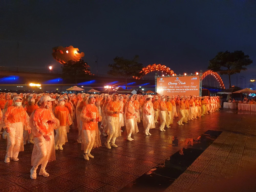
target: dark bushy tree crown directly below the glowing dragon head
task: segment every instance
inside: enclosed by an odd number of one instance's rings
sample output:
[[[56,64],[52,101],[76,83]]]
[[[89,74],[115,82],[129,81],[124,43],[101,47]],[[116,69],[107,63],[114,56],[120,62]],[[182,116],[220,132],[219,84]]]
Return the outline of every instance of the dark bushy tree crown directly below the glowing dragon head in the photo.
[[[77,84],[78,79],[86,79],[91,74],[89,67],[82,59],[79,61],[70,60],[61,67],[62,78]]]

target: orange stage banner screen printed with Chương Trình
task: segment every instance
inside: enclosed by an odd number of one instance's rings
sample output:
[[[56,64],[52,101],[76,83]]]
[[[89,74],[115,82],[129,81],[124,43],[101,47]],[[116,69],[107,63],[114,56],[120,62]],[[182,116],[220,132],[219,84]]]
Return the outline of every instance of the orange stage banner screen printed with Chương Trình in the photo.
[[[173,76],[156,79],[156,92],[160,95],[199,95],[200,76]]]

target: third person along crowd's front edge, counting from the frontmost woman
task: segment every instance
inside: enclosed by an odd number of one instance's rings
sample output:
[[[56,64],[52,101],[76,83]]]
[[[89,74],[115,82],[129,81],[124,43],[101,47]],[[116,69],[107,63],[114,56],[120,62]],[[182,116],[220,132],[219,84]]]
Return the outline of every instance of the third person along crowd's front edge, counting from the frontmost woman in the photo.
[[[121,136],[121,130],[120,130],[120,120],[119,120],[119,114],[121,112],[121,105],[118,101],[118,93],[114,93],[113,95],[113,101],[110,101],[105,109],[106,112],[106,121],[108,123],[108,138],[105,142],[105,146],[108,149],[111,149],[111,147],[118,147],[115,144],[116,137]],[[110,143],[111,142],[111,143]]]

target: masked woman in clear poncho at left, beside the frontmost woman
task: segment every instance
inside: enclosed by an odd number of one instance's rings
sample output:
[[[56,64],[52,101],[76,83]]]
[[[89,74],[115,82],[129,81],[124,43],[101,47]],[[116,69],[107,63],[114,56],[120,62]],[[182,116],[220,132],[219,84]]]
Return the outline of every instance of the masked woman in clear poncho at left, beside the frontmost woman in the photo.
[[[4,114],[4,127],[7,135],[7,148],[5,163],[10,162],[10,158],[18,161],[18,154],[24,151],[23,145],[23,129],[31,132],[29,127],[29,116],[21,105],[22,98],[16,95],[13,98],[12,106],[9,106]]]

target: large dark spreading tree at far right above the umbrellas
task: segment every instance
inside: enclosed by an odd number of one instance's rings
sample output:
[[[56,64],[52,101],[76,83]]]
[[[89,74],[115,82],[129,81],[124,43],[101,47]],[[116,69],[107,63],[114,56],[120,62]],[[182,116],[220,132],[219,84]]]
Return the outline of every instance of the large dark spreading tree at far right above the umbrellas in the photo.
[[[249,55],[244,55],[243,51],[218,52],[215,58],[209,61],[208,69],[219,72],[221,75],[227,74],[229,77],[229,87],[231,87],[230,76],[247,70],[245,66],[250,65],[252,60]]]

